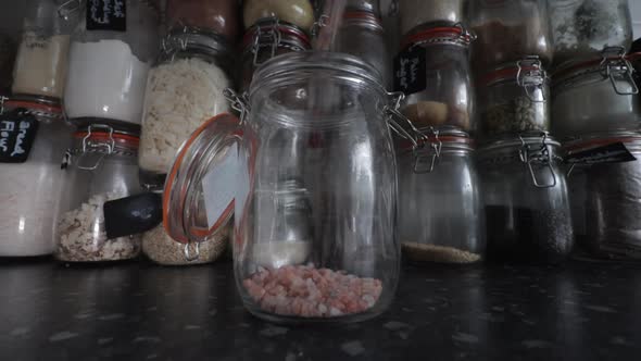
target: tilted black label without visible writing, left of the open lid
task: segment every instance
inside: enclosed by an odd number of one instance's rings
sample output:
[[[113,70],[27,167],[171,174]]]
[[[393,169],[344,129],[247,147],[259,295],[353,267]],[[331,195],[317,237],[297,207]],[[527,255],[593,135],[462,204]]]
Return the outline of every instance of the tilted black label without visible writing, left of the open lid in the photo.
[[[162,196],[142,194],[104,202],[104,231],[108,239],[150,231],[163,221]]]

